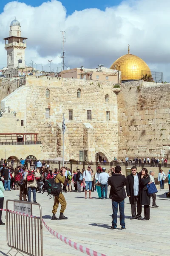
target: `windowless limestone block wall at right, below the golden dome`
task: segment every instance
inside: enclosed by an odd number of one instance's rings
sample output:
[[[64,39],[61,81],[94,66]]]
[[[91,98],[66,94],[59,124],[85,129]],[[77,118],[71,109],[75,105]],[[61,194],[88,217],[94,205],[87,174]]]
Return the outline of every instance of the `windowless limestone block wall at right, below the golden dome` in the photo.
[[[170,159],[170,84],[135,81],[118,95],[119,158]]]

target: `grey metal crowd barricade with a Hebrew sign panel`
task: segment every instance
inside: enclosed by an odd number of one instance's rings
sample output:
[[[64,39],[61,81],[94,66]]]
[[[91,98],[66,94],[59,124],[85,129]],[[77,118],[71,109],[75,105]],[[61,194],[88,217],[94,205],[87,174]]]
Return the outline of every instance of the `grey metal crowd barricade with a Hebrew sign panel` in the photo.
[[[14,211],[8,208],[9,202],[14,203]],[[34,206],[39,207],[40,217],[32,215]],[[43,256],[42,208],[40,204],[7,200],[6,225],[7,244],[11,247],[9,252],[16,249],[21,254],[23,252],[31,256]]]

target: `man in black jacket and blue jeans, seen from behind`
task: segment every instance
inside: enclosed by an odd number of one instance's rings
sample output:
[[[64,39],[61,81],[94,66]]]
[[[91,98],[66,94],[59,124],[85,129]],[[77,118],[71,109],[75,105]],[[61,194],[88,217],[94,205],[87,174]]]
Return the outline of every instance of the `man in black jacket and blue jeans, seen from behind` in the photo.
[[[121,167],[115,167],[115,173],[111,177],[108,178],[108,184],[111,186],[111,191],[109,198],[112,199],[112,227],[111,229],[116,229],[117,227],[117,211],[118,211],[118,204],[119,204],[119,212],[120,212],[120,224],[121,229],[125,229],[125,188],[126,185],[126,178],[125,175],[122,175]]]

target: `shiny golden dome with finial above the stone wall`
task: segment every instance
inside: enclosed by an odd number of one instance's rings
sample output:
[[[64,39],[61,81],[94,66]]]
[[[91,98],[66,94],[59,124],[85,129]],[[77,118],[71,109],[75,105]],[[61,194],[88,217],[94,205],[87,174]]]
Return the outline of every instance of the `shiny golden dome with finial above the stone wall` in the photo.
[[[121,71],[122,81],[139,80],[143,75],[151,75],[150,68],[138,56],[129,53],[118,58],[110,67]]]

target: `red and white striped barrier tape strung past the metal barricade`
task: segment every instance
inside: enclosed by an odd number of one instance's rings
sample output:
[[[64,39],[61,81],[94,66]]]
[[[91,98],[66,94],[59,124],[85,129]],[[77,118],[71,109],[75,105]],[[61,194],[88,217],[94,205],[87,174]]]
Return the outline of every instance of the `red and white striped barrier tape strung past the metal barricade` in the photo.
[[[0,211],[6,211],[6,209],[0,209]],[[8,212],[15,213],[17,215],[23,215],[23,216],[26,216],[26,217],[37,218],[36,216],[33,216],[33,215],[29,215],[29,214],[25,214],[25,213],[21,213],[21,212],[15,212],[15,211],[12,211],[12,210],[8,210]],[[77,244],[76,242],[71,241],[70,239],[66,238],[65,236],[60,235],[59,233],[57,233],[56,231],[54,231],[50,227],[48,227],[43,219],[42,219],[42,223],[44,224],[46,229],[53,236],[55,236],[57,239],[61,240],[65,244],[68,244],[69,246],[73,247],[74,249],[79,250],[80,252],[85,253],[85,254],[90,255],[90,256],[106,256],[105,254],[98,253],[94,250],[91,250],[87,247],[84,247],[80,244]]]

